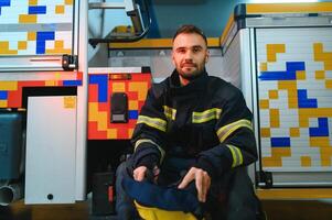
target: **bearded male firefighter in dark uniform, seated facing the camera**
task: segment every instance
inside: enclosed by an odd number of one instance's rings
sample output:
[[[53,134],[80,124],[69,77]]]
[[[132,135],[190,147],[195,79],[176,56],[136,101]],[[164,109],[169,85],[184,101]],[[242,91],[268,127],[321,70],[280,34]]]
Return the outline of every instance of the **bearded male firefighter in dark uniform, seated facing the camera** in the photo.
[[[117,172],[120,219],[136,219],[120,183],[128,170],[136,182],[148,178],[176,190],[193,186],[212,219],[256,219],[258,201],[245,170],[257,160],[251,113],[239,89],[208,76],[208,57],[207,40],[199,28],[183,25],[176,31],[175,69],[149,89],[132,135],[135,152],[127,169]]]

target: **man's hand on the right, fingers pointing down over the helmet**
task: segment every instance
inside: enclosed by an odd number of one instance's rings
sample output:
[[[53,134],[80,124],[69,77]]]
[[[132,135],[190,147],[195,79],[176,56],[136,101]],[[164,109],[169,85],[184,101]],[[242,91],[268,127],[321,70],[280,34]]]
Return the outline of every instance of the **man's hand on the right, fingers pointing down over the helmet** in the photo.
[[[192,167],[184,178],[182,179],[181,184],[178,186],[179,189],[185,188],[192,180],[195,179],[195,185],[197,189],[197,199],[201,202],[206,201],[206,195],[211,186],[211,177],[208,174],[196,167]]]

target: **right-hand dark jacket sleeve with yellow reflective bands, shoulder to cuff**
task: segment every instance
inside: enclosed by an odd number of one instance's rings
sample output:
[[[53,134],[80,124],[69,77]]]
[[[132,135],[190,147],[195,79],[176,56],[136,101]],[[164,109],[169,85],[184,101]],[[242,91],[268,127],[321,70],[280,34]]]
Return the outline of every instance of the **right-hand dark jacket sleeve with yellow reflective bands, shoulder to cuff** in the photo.
[[[215,125],[219,144],[200,153],[196,163],[196,167],[206,170],[212,178],[257,160],[251,112],[240,90],[228,92],[221,107],[222,112]]]

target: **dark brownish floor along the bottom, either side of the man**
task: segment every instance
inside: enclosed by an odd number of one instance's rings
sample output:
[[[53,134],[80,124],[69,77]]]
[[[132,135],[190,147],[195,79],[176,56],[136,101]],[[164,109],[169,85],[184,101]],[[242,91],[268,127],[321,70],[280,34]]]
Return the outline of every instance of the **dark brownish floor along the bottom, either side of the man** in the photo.
[[[268,220],[331,220],[332,204],[324,200],[263,200]],[[88,202],[75,205],[33,205],[17,201],[0,207],[0,220],[116,220],[92,217]]]

